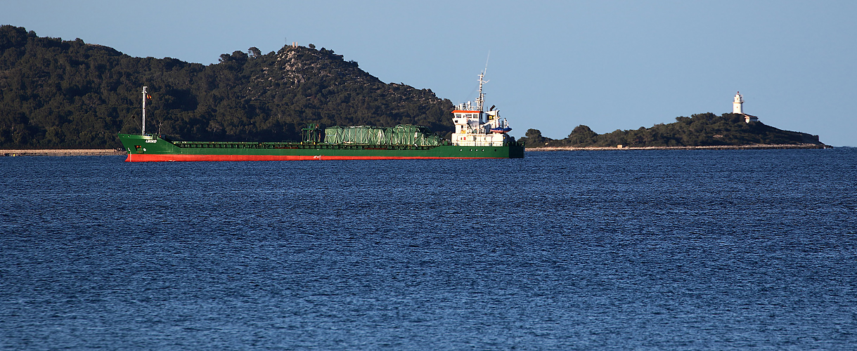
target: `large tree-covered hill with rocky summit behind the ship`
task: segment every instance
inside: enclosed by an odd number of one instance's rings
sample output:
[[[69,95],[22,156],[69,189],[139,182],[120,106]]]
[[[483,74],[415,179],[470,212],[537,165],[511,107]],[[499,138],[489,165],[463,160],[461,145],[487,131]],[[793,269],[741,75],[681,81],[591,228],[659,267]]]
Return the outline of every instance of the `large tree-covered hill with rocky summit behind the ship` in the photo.
[[[129,57],[81,39],[0,27],[0,148],[119,147],[117,133],[177,140],[300,140],[307,123],[417,124],[452,133],[452,102],[386,84],[314,45],[252,47],[202,65]]]

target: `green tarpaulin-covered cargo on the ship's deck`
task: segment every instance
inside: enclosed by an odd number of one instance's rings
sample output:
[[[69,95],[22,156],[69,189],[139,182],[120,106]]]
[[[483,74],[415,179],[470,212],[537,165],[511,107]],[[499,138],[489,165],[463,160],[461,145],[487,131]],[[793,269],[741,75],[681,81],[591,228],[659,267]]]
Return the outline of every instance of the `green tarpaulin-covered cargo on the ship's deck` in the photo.
[[[440,146],[440,137],[428,128],[411,124],[396,127],[329,127],[327,144]]]

